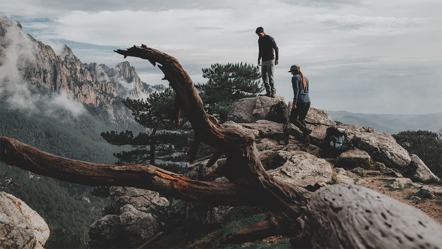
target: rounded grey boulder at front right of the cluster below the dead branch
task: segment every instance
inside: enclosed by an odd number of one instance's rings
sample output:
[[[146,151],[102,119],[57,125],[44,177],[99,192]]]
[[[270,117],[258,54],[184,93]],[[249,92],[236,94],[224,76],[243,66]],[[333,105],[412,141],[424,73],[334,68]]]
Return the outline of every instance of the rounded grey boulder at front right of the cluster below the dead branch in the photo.
[[[156,215],[138,211],[130,204],[121,207],[120,224],[133,248],[152,238],[160,230]]]

